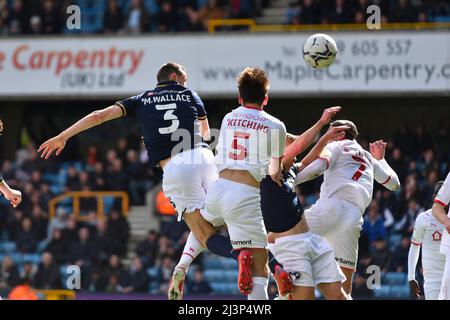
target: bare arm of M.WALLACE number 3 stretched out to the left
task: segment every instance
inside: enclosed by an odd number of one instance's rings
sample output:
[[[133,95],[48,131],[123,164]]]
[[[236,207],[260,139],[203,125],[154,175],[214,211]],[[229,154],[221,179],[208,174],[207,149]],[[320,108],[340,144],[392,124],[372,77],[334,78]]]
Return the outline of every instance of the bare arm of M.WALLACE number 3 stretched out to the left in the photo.
[[[102,110],[96,110],[61,132],[56,137],[45,141],[38,149],[42,152],[41,158],[48,159],[54,151],[57,156],[66,146],[67,140],[77,135],[78,133],[88,130],[92,127],[98,126],[104,122],[119,118],[123,116],[122,108],[118,105],[113,105]]]

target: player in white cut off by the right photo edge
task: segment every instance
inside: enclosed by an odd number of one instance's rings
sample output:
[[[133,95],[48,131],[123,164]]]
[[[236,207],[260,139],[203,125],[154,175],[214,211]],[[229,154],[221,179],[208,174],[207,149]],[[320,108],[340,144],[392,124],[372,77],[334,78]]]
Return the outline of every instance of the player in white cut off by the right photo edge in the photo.
[[[433,216],[444,225],[440,251],[445,256],[445,266],[439,300],[450,300],[450,217],[445,212],[445,208],[448,208],[449,203],[450,173],[445,178],[445,182],[434,199],[433,208],[431,209]]]

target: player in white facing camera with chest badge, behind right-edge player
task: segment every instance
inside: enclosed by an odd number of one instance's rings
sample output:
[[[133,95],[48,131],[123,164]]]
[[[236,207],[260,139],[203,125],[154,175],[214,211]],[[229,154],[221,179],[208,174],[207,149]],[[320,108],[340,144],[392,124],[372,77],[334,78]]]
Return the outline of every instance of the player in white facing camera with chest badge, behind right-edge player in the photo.
[[[433,198],[443,184],[444,181],[436,183]],[[420,297],[415,274],[421,246],[425,300],[437,300],[439,297],[445,266],[445,256],[439,252],[443,229],[444,226],[436,220],[431,209],[422,212],[416,218],[408,254],[408,282],[416,299]]]

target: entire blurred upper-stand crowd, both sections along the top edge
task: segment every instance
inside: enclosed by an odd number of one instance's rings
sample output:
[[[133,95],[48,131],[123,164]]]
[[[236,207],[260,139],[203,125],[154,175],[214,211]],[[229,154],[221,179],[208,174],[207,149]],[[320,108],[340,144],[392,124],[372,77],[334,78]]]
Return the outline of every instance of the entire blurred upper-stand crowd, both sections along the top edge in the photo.
[[[0,35],[67,32],[71,4],[88,17],[82,18],[84,33],[136,34],[206,31],[210,19],[262,16],[271,0],[0,0]],[[450,21],[445,0],[291,0],[285,22],[365,23],[372,4],[380,7],[382,23]]]

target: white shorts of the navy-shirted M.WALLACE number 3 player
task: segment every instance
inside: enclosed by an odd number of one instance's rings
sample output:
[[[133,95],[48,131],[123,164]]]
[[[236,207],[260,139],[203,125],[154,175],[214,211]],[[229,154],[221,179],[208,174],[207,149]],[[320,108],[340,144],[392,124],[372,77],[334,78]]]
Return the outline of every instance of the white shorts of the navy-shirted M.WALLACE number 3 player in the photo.
[[[214,154],[208,148],[184,151],[170,159],[162,188],[178,212],[178,221],[185,212],[204,208],[206,190],[217,178]]]

